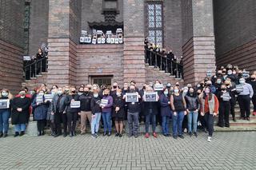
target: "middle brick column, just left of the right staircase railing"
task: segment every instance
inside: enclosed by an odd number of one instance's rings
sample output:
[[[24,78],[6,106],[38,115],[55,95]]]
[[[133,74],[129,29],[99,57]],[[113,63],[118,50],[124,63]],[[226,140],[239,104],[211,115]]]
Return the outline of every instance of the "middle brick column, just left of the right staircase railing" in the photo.
[[[138,86],[146,81],[144,62],[144,1],[123,1],[124,82],[134,80]]]

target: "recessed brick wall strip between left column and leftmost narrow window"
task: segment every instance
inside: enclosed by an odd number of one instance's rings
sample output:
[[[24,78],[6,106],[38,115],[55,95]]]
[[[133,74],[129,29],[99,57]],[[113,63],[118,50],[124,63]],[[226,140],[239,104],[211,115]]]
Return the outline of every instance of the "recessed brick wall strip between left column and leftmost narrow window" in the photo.
[[[38,47],[47,43],[49,0],[30,0],[30,56],[38,53]]]

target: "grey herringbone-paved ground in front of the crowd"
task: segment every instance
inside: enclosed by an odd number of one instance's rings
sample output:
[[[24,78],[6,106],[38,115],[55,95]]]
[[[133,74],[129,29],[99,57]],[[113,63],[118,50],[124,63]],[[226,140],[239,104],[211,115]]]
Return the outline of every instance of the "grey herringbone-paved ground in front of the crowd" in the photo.
[[[185,139],[90,135],[0,139],[0,169],[256,169],[256,132]]]

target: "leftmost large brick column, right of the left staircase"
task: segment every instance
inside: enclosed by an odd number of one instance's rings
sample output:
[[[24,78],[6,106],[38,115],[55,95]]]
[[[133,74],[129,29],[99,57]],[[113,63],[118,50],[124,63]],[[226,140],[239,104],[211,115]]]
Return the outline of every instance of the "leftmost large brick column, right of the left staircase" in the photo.
[[[48,85],[76,85],[80,23],[81,0],[49,1]]]

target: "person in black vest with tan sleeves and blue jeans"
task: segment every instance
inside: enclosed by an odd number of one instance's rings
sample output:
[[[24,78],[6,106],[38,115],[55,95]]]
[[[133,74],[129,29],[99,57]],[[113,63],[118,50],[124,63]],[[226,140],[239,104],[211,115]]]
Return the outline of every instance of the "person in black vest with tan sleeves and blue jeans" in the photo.
[[[178,86],[174,87],[174,94],[170,96],[170,106],[173,110],[173,136],[174,139],[184,138],[182,135],[182,122],[184,115],[186,115],[186,101]]]

